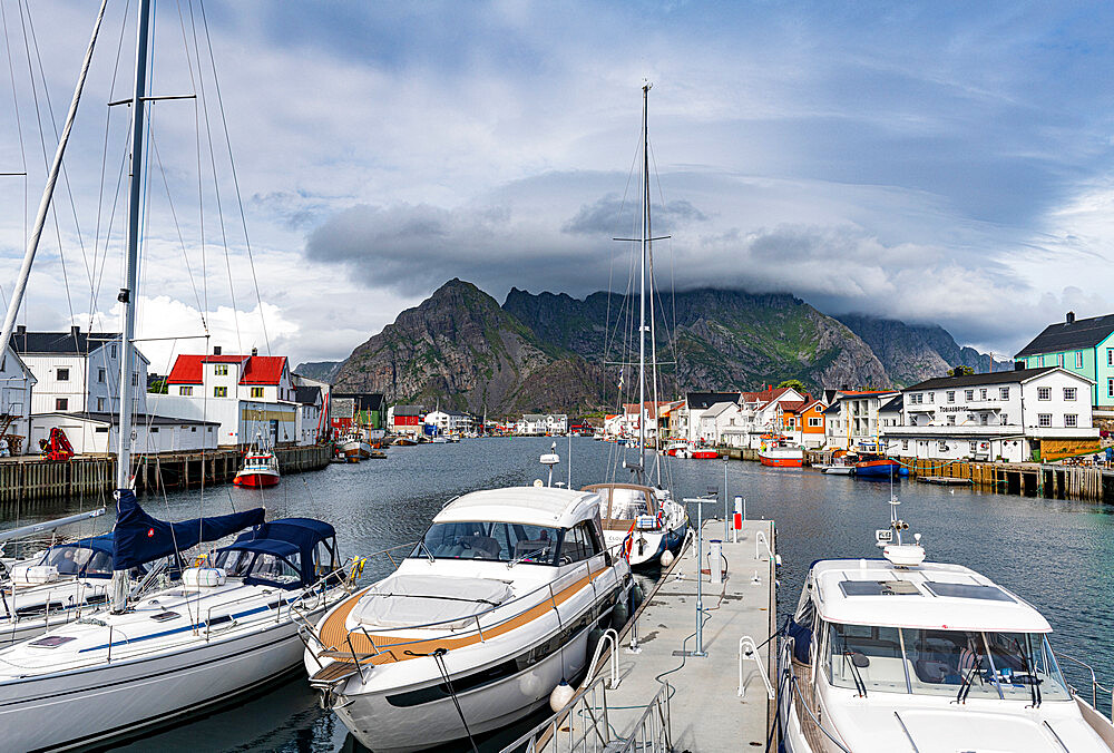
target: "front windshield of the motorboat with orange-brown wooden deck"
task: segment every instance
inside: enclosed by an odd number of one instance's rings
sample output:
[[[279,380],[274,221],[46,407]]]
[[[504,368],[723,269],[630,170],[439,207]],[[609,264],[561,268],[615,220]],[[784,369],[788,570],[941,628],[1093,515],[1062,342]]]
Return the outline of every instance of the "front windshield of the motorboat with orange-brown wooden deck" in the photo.
[[[519,522],[436,522],[410,556],[555,565],[559,534]]]

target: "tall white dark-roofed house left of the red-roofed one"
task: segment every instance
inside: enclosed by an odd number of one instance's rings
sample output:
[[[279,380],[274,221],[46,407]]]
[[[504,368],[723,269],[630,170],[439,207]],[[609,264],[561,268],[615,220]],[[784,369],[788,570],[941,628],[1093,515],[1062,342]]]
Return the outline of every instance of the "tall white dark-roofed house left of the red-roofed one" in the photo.
[[[18,326],[11,345],[35,374],[31,413],[117,413],[120,410],[118,332],[28,332]],[[135,351],[133,411],[147,412],[149,361]]]

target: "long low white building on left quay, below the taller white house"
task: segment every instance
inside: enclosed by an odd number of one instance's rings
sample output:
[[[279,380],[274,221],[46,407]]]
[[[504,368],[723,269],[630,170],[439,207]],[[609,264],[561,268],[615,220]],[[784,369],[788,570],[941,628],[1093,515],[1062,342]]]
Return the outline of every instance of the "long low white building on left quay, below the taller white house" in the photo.
[[[58,428],[77,454],[115,454],[119,448],[119,413],[37,413],[31,420],[31,447],[50,437]],[[221,424],[216,421],[175,419],[137,414],[133,451],[154,454],[194,450],[215,450]]]

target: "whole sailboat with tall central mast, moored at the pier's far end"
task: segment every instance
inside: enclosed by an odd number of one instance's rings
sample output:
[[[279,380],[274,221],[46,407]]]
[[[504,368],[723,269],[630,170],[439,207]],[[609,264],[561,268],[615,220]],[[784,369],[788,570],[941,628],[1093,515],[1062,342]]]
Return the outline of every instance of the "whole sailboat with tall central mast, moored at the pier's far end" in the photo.
[[[600,517],[604,539],[608,547],[622,545],[632,567],[668,565],[684,544],[688,531],[688,514],[683,505],[673,499],[662,485],[662,453],[654,452],[654,477],[646,469],[646,334],[649,333],[651,383],[654,398],[653,418],[658,421],[661,402],[657,400],[657,342],[654,329],[652,243],[655,239],[651,224],[649,202],[649,89],[648,81],[642,87],[642,236],[639,238],[617,238],[638,241],[639,289],[638,289],[638,436],[634,440],[638,449],[637,463],[624,462],[624,467],[635,476],[633,483],[594,483],[585,490],[600,496]],[[659,239],[659,238],[658,238]],[[649,267],[649,280],[647,280]],[[649,306],[647,322],[646,309]],[[655,430],[655,446],[661,441]]]

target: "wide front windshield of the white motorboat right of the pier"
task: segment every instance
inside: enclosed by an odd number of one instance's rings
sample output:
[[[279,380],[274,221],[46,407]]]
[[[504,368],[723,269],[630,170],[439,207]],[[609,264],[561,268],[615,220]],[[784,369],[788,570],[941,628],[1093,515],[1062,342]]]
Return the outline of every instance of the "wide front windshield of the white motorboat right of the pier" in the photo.
[[[1071,700],[1043,633],[928,630],[832,624],[824,671],[867,691],[1032,701]],[[1035,686],[1035,688],[1034,688]]]

